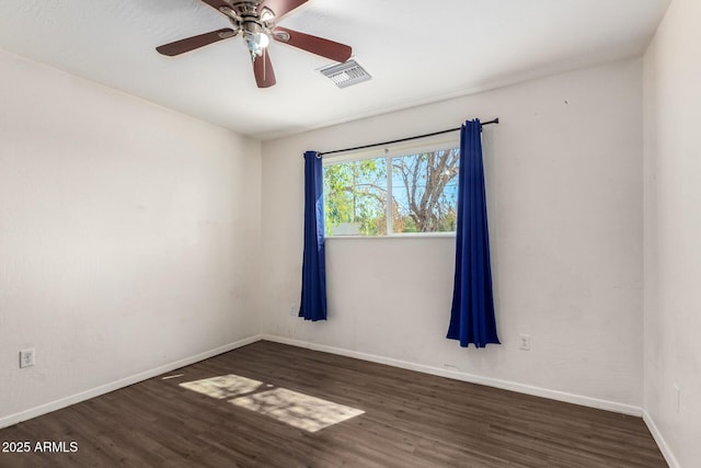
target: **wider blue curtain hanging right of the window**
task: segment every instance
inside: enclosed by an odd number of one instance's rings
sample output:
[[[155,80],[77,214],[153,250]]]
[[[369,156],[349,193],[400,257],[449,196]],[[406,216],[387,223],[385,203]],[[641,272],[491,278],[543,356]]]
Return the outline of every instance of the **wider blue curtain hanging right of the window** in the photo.
[[[460,129],[456,275],[448,339],[460,346],[499,343],[494,319],[490,235],[486,222],[482,126],[468,121]]]

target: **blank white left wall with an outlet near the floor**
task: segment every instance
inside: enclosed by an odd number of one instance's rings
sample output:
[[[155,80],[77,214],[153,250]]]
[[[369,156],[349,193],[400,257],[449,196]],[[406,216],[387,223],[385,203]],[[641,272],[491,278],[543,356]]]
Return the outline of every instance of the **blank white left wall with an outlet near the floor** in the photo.
[[[260,142],[2,52],[0,77],[0,422],[257,333]]]

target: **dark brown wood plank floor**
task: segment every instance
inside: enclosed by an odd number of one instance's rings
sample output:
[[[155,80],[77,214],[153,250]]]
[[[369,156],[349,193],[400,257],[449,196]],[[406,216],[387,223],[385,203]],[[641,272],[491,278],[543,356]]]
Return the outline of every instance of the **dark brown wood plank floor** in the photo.
[[[666,467],[640,418],[271,342],[0,431],[1,467]],[[365,414],[309,433],[179,384],[235,374]]]

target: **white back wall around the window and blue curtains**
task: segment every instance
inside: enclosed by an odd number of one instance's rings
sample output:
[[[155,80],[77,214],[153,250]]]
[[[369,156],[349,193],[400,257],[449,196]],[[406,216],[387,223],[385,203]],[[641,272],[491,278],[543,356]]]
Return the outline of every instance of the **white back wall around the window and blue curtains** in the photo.
[[[330,239],[329,321],[289,313],[299,305],[304,150],[494,116],[502,124],[483,137],[503,345],[464,350],[444,338],[453,239]],[[642,152],[640,60],[265,142],[263,330],[555,398],[640,407]],[[518,350],[519,333],[531,335],[531,351]]]

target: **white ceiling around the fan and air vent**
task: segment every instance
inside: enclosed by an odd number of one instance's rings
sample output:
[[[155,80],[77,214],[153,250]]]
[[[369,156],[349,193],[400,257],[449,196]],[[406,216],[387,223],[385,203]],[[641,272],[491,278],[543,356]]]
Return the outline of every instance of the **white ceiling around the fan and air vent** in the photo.
[[[199,0],[2,0],[0,48],[267,139],[640,56],[669,0],[310,0],[280,25],[353,46],[372,80],[337,89],[331,62],[273,44],[257,89],[240,37],[164,57],[227,27]]]

